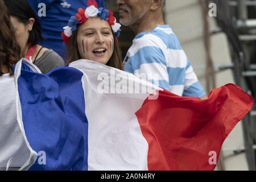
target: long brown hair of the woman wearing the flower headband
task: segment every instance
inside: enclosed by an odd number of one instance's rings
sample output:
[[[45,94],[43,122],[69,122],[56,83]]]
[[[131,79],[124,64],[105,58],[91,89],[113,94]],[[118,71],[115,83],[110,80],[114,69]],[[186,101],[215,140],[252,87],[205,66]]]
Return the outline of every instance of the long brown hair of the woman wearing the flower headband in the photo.
[[[72,32],[72,35],[68,41],[68,63],[72,63],[73,61],[76,61],[82,58],[79,54],[79,49],[77,47],[77,33],[78,33],[79,26],[80,24],[77,25],[77,30]],[[112,30],[112,34],[114,36],[114,51],[108,63],[106,63],[106,65],[108,65],[109,67],[123,70],[121,49],[119,48],[117,40],[115,39],[115,34],[113,30]]]

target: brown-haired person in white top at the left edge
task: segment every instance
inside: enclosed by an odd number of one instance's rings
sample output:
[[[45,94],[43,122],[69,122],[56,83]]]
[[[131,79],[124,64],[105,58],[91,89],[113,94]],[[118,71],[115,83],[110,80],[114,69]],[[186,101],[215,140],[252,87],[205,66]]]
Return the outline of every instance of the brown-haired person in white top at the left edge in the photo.
[[[0,170],[19,169],[29,151],[16,118],[13,65],[20,59],[9,11],[0,0]]]

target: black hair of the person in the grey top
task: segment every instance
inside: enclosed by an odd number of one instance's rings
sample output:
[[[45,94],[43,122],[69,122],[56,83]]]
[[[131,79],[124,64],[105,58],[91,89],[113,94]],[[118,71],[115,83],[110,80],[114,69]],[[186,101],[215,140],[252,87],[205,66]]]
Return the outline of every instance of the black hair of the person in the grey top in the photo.
[[[26,0],[3,0],[5,1],[6,7],[9,9],[10,15],[15,16],[19,22],[28,24],[30,18],[34,18],[35,22],[30,31],[28,37],[28,44],[30,46],[35,46],[39,42],[43,42],[44,38],[42,36],[41,23],[36,16],[34,10]]]

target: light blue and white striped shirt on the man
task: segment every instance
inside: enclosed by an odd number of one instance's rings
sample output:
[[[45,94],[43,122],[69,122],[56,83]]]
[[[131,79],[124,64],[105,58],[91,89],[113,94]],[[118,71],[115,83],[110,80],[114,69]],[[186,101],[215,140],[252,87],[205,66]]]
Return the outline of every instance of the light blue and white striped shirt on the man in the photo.
[[[189,97],[205,96],[190,61],[169,25],[158,25],[150,32],[138,34],[127,52],[126,60],[126,72],[158,75],[148,80],[172,93]]]

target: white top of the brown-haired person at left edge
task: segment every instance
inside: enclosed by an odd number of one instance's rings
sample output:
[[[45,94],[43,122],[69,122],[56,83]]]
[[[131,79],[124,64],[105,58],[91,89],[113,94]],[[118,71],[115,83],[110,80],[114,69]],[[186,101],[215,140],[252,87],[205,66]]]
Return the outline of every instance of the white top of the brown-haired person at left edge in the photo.
[[[16,119],[14,77],[9,73],[0,76],[0,170],[19,169],[29,158],[28,150]]]

